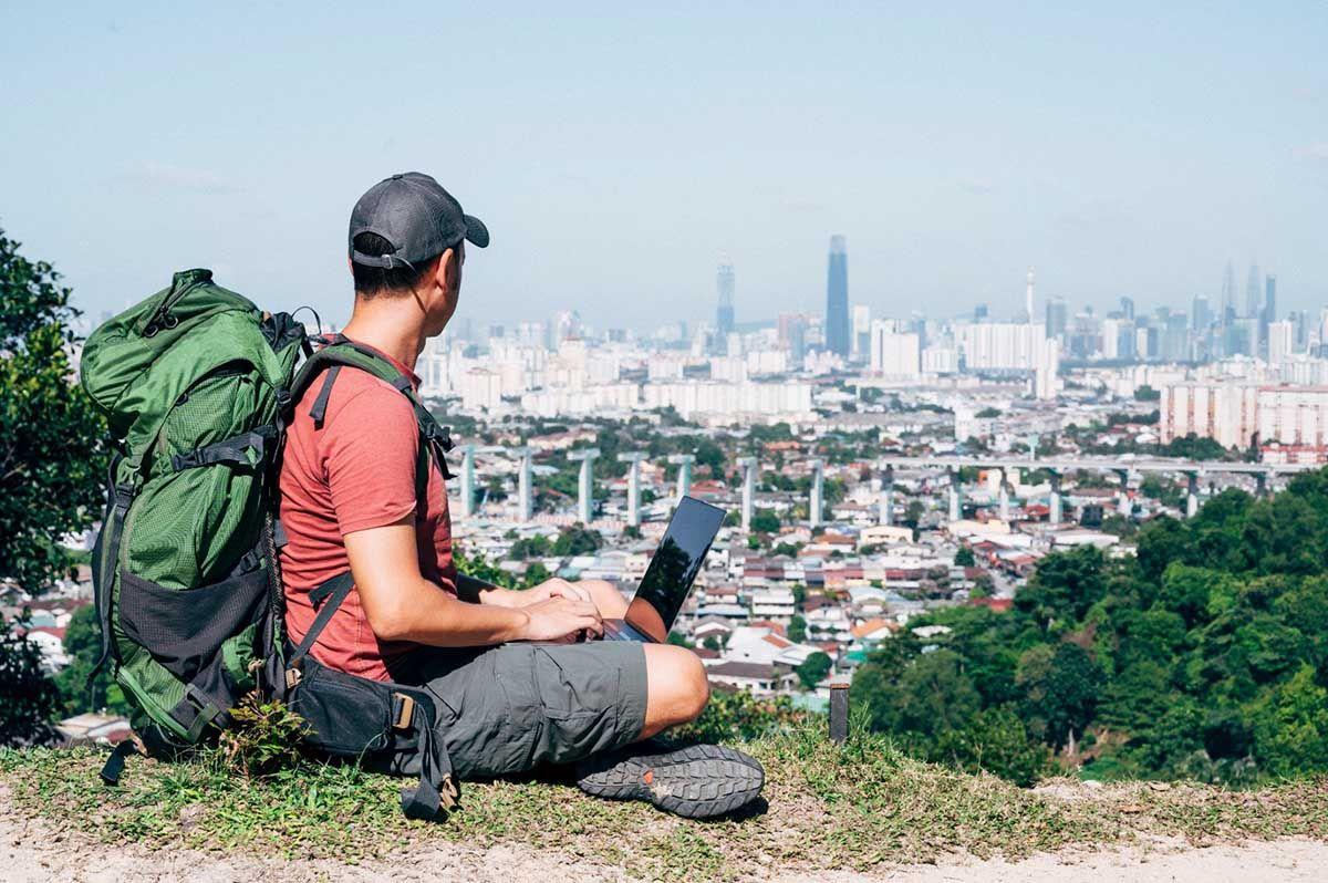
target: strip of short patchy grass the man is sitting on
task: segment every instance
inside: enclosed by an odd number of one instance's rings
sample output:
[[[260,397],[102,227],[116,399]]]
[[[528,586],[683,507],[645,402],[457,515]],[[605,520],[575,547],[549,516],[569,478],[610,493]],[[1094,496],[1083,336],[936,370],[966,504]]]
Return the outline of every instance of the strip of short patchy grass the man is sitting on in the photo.
[[[766,769],[769,806],[744,818],[689,822],[639,803],[610,803],[548,781],[467,783],[462,810],[405,819],[398,779],[303,762],[262,782],[215,756],[134,758],[104,789],[90,750],[0,752],[0,787],[21,813],[106,843],[361,862],[412,844],[521,843],[623,866],[647,879],[725,880],[786,871],[870,870],[956,851],[1020,858],[1153,835],[1194,843],[1328,837],[1328,781],[1256,791],[1070,781],[1023,790],[908,758],[857,734],[843,746],[799,730],[742,744]]]

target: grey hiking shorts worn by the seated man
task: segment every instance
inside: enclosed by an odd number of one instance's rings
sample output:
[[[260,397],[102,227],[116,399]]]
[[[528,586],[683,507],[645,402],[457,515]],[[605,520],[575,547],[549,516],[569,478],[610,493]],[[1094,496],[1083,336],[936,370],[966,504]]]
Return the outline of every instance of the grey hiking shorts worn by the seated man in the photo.
[[[641,644],[425,648],[393,680],[437,697],[438,734],[459,779],[579,761],[635,741],[645,725]]]

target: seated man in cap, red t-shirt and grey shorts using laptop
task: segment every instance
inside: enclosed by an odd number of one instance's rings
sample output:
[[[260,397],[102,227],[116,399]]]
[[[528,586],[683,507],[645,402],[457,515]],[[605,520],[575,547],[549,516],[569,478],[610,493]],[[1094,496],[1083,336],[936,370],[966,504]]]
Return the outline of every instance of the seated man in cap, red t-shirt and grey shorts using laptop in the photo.
[[[343,333],[413,378],[425,340],[457,309],[466,243],[489,231],[433,178],[392,175],[351,214],[355,309]],[[315,381],[311,396],[323,384]],[[347,570],[355,591],[319,636],[324,665],[422,685],[437,698],[438,734],[462,779],[580,762],[591,794],[647,799],[706,817],[760,794],[752,758],[714,746],[631,748],[695,720],[709,697],[691,651],[588,640],[625,611],[603,582],[547,580],[529,591],[485,587],[458,596],[442,474],[417,487],[420,432],[390,384],[341,370],[323,420],[295,408],[280,475],[287,627],[309,629],[309,591]],[[465,582],[465,580],[463,580]]]

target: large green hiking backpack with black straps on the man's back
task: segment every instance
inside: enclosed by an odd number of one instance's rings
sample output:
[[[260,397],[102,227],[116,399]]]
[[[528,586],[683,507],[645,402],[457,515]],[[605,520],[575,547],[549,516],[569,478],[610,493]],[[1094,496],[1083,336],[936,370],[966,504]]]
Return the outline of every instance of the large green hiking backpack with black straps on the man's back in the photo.
[[[327,600],[299,648],[283,627],[276,481],[284,428],[319,376],[315,409],[325,406],[343,366],[386,380],[414,405],[421,491],[430,462],[446,475],[446,432],[390,361],[340,336],[315,352],[288,313],[260,311],[207,270],[175,274],[170,288],[88,339],[82,386],[118,442],[93,552],[98,668],[112,664],[149,753],[215,737],[240,698],[259,690],[305,717],[315,750],[410,771],[404,760],[414,760],[421,782],[402,793],[402,807],[432,817],[440,787],[449,801],[456,789],[433,737],[429,696],[327,669],[303,677],[316,667],[307,655],[317,632],[351,591],[349,574],[315,591]],[[108,761],[109,785],[133,746]]]

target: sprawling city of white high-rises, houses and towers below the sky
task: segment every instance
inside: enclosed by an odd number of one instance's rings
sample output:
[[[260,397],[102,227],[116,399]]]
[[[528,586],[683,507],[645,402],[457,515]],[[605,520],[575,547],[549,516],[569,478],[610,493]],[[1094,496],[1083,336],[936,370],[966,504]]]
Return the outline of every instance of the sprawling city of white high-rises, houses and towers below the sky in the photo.
[[[834,236],[823,312],[740,323],[736,287],[721,263],[713,323],[649,335],[458,317],[417,368],[457,542],[518,582],[631,592],[679,497],[730,513],[673,636],[721,689],[823,705],[924,611],[1008,608],[1054,550],[1129,555],[1149,518],[1328,462],[1328,311],[1279,316],[1256,268],[1189,312],[1070,313],[1029,271],[1004,307],[876,317]],[[32,604],[52,668],[81,576]]]

